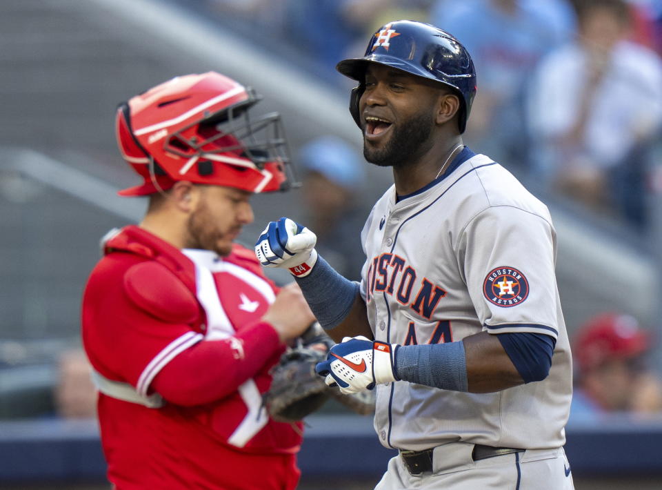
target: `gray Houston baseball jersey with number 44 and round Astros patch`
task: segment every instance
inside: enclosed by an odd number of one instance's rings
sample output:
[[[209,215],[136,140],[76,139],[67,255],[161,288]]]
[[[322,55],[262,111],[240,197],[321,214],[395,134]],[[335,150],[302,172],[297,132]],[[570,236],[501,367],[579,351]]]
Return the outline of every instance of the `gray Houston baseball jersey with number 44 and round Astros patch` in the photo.
[[[385,447],[415,451],[458,440],[561,447],[572,366],[549,211],[485,155],[466,148],[458,161],[441,182],[399,202],[392,186],[365,223],[361,295],[375,340],[411,345],[483,330],[544,333],[556,339],[552,367],[541,382],[496,393],[378,385],[375,430]]]

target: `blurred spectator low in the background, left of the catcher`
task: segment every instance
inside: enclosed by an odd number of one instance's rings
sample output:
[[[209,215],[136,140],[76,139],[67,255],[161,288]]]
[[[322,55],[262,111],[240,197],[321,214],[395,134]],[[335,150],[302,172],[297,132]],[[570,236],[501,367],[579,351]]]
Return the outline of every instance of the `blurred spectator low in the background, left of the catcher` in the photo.
[[[97,416],[97,389],[92,382],[92,367],[82,349],[64,351],[59,356],[54,403],[61,418]]]

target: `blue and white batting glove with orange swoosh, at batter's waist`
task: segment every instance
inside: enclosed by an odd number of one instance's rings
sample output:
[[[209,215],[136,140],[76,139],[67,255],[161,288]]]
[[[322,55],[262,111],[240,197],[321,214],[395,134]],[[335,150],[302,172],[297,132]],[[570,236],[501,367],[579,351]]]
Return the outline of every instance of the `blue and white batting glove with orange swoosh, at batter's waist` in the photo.
[[[330,349],[327,360],[317,363],[315,371],[329,386],[337,384],[342,393],[372,390],[376,384],[399,380],[394,368],[397,347],[363,335],[345,337]]]

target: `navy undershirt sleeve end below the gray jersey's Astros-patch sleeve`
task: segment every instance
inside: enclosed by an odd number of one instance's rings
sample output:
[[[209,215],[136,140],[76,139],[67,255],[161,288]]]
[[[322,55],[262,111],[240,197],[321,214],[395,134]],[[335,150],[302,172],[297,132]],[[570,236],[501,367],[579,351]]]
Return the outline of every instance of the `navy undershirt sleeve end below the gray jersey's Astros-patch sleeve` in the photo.
[[[547,378],[556,339],[544,333],[499,333],[496,335],[525,383]]]

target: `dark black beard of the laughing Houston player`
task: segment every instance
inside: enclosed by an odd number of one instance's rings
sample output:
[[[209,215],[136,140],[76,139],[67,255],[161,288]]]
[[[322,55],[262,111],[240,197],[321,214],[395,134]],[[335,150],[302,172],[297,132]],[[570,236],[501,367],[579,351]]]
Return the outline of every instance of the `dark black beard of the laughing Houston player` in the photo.
[[[383,148],[370,148],[363,142],[363,157],[381,167],[404,167],[421,153],[432,133],[432,112],[421,112],[411,119],[393,125],[393,133]]]

